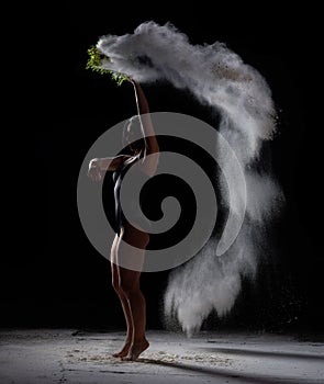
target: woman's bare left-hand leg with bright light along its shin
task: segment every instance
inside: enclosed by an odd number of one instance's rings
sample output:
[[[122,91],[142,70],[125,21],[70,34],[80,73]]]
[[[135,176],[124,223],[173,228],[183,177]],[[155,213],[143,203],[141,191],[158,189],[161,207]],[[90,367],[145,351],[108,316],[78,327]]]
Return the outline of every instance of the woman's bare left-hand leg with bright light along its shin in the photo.
[[[120,352],[113,353],[112,355],[114,358],[124,358],[129,354],[132,340],[133,340],[133,319],[131,315],[131,308],[130,308],[130,303],[127,301],[127,297],[125,296],[124,292],[121,289],[120,284],[120,274],[119,274],[119,266],[116,264],[116,249],[118,249],[118,244],[121,240],[121,238],[116,235],[112,247],[111,247],[111,272],[112,272],[112,286],[114,287],[116,294],[119,295],[119,298],[122,304],[122,308],[124,312],[124,317],[126,321],[126,327],[127,327],[127,334],[126,334],[126,339],[123,348],[121,349]]]

